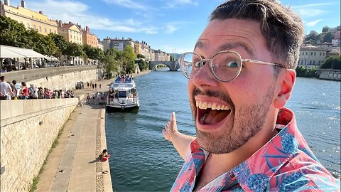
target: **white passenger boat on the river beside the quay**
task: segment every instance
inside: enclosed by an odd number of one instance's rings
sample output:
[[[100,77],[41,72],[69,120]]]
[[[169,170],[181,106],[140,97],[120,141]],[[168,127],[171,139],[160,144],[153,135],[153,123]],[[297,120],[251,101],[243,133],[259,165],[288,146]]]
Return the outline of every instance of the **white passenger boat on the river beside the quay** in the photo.
[[[139,109],[139,95],[133,78],[119,78],[109,86],[107,97],[108,112],[130,111]]]

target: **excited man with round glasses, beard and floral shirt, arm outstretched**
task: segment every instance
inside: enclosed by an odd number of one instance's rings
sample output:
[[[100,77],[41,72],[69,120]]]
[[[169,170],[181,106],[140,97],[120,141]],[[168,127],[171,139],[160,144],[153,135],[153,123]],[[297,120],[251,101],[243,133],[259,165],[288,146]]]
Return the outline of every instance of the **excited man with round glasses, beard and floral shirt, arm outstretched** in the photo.
[[[232,0],[180,58],[197,137],[163,129],[185,159],[172,191],[340,191],[284,107],[303,23],[277,1]],[[190,58],[190,60],[187,60]]]

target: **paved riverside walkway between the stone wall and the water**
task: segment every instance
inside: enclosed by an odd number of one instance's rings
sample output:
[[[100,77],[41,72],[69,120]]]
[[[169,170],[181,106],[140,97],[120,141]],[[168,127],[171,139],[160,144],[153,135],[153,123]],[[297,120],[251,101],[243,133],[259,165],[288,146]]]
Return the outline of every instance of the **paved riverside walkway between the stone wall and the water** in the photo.
[[[97,81],[97,89],[85,85],[85,89],[75,90],[75,97],[84,101],[88,93],[107,92],[112,81]],[[110,160],[102,162],[98,157],[103,149],[107,149],[104,105],[76,107],[43,166],[36,191],[113,191]]]

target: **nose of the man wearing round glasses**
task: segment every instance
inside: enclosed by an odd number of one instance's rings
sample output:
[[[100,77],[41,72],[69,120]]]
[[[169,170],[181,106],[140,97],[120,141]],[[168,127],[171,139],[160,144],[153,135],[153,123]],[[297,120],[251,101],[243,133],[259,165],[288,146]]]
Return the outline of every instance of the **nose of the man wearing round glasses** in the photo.
[[[212,89],[213,87],[218,86],[218,80],[215,78],[215,75],[213,75],[210,69],[210,62],[210,60],[205,60],[204,65],[202,65],[200,70],[197,71],[192,79],[195,86],[199,87],[200,89],[205,89],[208,87]]]

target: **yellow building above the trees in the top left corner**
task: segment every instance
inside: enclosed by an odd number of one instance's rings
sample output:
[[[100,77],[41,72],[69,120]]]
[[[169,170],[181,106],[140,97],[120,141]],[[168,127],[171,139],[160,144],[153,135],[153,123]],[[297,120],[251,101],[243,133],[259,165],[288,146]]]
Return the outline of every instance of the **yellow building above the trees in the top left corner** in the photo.
[[[10,0],[0,2],[0,15],[7,16],[22,23],[27,29],[33,28],[38,33],[48,35],[48,33],[58,33],[57,22],[43,14],[43,11],[32,11],[26,9],[26,2],[21,0],[21,6],[11,6]]]

